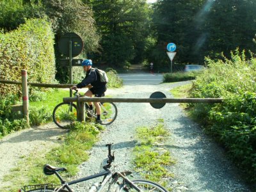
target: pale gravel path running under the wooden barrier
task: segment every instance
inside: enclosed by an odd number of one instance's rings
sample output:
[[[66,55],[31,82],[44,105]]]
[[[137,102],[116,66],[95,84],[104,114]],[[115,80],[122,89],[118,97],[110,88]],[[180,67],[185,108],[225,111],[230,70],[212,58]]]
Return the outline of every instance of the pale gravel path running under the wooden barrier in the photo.
[[[168,98],[171,88],[183,83],[124,86],[118,90],[108,90],[111,97],[148,98],[151,93],[163,92]],[[131,170],[131,151],[136,145],[134,130],[136,127],[156,124],[163,118],[164,125],[171,136],[164,147],[168,148],[175,166],[170,168],[175,177],[170,180],[173,191],[252,191],[239,172],[229,163],[221,147],[204,135],[197,124],[184,115],[179,104],[166,104],[154,109],[147,103],[117,103],[118,116],[115,122],[106,126],[100,140],[90,151],[90,159],[79,166],[78,177],[99,171],[102,159],[107,156],[106,143],[114,143],[115,164],[117,170]],[[49,124],[16,132],[0,141],[0,187],[3,175],[13,168],[20,156],[26,156],[37,150],[47,150],[58,144],[58,136],[64,131]],[[93,182],[93,181],[92,181]],[[82,182],[72,186],[76,191],[87,191],[92,182]],[[6,183],[5,183],[6,184]]]

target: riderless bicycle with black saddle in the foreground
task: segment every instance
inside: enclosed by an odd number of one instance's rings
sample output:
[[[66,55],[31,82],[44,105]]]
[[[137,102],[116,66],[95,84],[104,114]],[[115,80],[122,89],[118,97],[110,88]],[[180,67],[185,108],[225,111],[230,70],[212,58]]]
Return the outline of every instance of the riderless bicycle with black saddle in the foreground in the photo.
[[[76,184],[79,182],[83,182],[86,180],[94,179],[97,177],[103,177],[102,181],[95,183],[89,189],[89,192],[93,191],[161,191],[168,192],[163,186],[156,184],[155,182],[149,180],[130,180],[127,176],[131,175],[132,172],[124,171],[124,172],[115,172],[115,166],[111,168],[111,164],[115,160],[114,153],[111,154],[111,144],[107,144],[108,147],[108,157],[104,159],[100,166],[100,172],[94,175],[90,175],[88,177],[83,177],[81,179],[72,180],[70,182],[66,182],[63,180],[59,172],[66,171],[66,168],[56,168],[49,164],[44,165],[44,173],[45,175],[53,175],[55,174],[61,182],[61,185],[54,186],[52,184],[40,184],[33,186],[24,186],[20,191],[22,192],[71,192],[72,189],[70,185]],[[111,168],[111,169],[110,169]],[[106,187],[108,186],[108,188]]]

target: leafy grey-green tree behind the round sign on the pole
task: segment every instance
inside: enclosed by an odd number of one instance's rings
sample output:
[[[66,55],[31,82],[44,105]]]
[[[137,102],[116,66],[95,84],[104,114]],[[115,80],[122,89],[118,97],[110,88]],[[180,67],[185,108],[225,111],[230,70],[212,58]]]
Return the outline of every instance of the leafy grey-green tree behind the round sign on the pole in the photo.
[[[60,36],[74,32],[81,36],[84,42],[83,56],[95,51],[99,46],[100,36],[95,27],[93,13],[89,6],[81,0],[49,0],[44,1],[45,13],[52,22],[52,28],[56,33],[56,79],[61,82],[68,81],[68,68],[60,65],[61,56],[58,51]]]

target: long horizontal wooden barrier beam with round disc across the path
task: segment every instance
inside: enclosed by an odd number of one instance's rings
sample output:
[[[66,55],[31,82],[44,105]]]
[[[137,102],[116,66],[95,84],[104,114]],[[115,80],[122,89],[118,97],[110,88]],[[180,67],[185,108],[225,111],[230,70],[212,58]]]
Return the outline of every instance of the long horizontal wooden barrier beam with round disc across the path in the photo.
[[[150,102],[150,103],[220,103],[221,98],[102,98],[64,97],[63,102]]]

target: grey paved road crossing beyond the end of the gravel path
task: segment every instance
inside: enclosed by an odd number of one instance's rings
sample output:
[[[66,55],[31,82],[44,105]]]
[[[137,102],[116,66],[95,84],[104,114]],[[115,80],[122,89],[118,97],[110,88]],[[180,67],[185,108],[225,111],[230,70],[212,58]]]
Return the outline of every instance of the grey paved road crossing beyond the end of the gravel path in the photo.
[[[134,73],[134,74],[118,74],[123,79],[124,85],[129,84],[159,84],[163,82],[162,74],[150,73]]]

